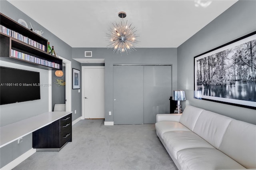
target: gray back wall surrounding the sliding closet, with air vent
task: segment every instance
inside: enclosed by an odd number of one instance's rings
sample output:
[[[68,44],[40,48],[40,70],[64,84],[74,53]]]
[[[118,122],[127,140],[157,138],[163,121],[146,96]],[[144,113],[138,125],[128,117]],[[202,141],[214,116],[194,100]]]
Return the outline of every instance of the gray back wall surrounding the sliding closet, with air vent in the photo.
[[[107,48],[73,48],[73,58],[84,58],[84,51],[92,51],[92,58],[105,59],[105,121],[113,121],[113,65],[114,64],[172,64],[172,88],[177,89],[177,49],[137,48],[129,55],[114,54]],[[170,75],[171,76],[171,75]]]

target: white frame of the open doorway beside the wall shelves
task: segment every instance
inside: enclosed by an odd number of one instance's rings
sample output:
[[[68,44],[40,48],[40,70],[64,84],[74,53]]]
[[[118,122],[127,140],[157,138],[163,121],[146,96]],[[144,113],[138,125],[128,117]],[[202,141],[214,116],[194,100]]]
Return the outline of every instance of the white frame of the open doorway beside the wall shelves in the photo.
[[[61,56],[58,55],[60,59],[62,59],[62,63],[65,63],[65,74],[66,74],[66,87],[65,87],[65,92],[66,92],[66,112],[71,112],[71,82],[72,82],[72,72],[71,72],[71,61],[68,59],[65,59]],[[49,70],[49,82],[52,83],[52,70]],[[52,87],[49,87],[49,111],[52,111]]]

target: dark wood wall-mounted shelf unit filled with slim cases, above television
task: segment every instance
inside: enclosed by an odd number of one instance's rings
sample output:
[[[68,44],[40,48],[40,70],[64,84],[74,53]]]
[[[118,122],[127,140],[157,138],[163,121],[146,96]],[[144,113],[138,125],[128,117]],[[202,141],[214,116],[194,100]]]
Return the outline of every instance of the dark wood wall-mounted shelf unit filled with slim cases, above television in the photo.
[[[0,13],[0,59],[40,69],[62,70],[62,59],[47,53],[48,40]],[[18,51],[24,57],[13,54]],[[26,55],[26,57],[25,57]]]

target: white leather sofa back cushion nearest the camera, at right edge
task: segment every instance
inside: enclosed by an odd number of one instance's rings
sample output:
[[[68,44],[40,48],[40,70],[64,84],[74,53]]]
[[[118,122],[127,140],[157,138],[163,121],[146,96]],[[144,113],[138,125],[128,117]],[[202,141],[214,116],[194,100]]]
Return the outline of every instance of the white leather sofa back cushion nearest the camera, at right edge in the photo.
[[[245,168],[256,168],[256,125],[231,121],[219,150]]]

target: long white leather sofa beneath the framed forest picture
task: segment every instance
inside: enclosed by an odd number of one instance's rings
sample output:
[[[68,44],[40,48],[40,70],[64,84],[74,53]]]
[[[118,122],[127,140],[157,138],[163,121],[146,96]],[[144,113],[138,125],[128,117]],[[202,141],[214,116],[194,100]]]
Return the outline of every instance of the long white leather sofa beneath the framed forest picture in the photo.
[[[179,170],[256,168],[256,125],[186,106],[156,115],[155,126]]]

